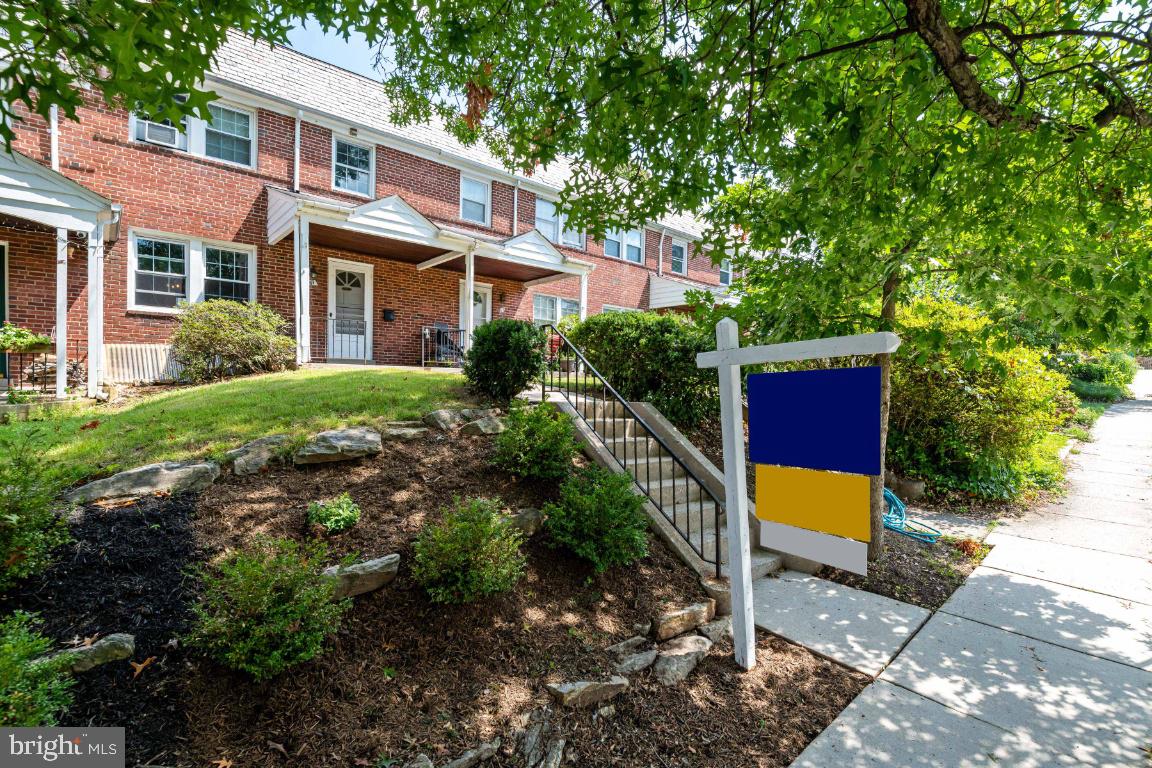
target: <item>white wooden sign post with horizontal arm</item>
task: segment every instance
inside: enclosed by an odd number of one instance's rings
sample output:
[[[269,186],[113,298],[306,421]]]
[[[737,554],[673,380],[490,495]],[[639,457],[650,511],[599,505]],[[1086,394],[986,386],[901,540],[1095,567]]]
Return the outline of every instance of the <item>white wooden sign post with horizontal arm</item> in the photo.
[[[720,373],[720,420],[723,431],[725,511],[728,524],[728,575],[732,587],[732,631],[736,663],[756,666],[756,624],[752,610],[751,539],[748,525],[748,471],[744,461],[744,410],[740,370],[744,365],[791,363],[854,355],[886,355],[900,347],[892,333],[835,336],[812,341],[740,345],[732,318],[717,324],[717,349],[700,352],[696,365]]]

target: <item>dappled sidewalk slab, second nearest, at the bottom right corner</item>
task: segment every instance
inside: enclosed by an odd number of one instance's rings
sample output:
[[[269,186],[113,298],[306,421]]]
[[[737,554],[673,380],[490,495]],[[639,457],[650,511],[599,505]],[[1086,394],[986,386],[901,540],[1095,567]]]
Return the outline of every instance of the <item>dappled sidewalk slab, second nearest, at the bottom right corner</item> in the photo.
[[[1146,760],[1152,672],[938,613],[882,679],[1079,765]]]

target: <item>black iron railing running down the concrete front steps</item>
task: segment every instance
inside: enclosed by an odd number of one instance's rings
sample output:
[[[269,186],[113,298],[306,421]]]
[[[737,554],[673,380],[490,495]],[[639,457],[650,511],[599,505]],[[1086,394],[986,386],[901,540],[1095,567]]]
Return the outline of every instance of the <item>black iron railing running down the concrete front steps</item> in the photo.
[[[721,576],[723,504],[567,336],[555,326],[546,329],[544,400],[550,391],[567,400],[692,552]],[[706,522],[712,523],[711,541]]]

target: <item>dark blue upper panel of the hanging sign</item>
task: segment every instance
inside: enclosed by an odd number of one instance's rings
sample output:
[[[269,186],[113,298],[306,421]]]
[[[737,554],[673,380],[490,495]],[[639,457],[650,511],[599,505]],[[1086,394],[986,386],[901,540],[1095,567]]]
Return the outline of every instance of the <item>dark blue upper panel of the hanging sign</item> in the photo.
[[[880,368],[748,377],[753,464],[880,473]]]

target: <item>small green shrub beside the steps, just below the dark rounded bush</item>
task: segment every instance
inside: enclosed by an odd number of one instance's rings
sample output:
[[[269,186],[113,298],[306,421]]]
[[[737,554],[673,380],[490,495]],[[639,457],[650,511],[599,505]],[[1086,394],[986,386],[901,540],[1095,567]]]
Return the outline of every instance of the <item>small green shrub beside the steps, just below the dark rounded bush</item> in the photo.
[[[551,405],[516,408],[497,436],[493,463],[530,480],[561,480],[579,450],[571,420]]]

